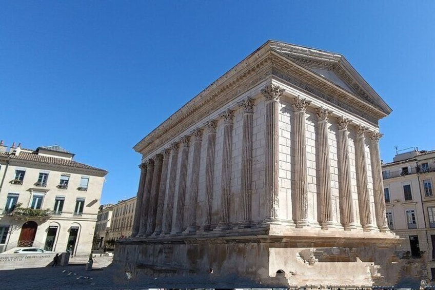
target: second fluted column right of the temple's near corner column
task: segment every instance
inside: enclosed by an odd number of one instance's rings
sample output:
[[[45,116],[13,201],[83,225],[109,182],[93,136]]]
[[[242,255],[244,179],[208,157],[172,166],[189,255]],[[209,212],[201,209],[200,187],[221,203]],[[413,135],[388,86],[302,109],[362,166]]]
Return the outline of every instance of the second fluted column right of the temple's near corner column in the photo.
[[[316,113],[318,119],[319,222],[323,229],[327,229],[333,225],[328,142],[328,117],[331,111],[320,107]]]

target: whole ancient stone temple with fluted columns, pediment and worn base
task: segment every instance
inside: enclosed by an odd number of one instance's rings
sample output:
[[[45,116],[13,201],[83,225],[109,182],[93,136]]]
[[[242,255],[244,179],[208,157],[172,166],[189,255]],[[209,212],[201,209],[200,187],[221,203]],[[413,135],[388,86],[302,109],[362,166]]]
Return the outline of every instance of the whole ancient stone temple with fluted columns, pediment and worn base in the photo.
[[[342,55],[266,42],[134,146],[133,233],[115,261],[137,277],[394,284],[390,112]]]

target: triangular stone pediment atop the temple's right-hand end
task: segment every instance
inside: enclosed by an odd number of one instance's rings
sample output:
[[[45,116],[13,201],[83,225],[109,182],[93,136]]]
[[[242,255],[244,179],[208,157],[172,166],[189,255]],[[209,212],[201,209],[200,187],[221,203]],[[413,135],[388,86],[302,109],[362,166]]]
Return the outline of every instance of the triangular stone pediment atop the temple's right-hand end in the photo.
[[[357,96],[386,114],[391,112],[391,108],[343,55],[282,42],[269,41],[268,44],[272,51],[280,53],[334,86]]]

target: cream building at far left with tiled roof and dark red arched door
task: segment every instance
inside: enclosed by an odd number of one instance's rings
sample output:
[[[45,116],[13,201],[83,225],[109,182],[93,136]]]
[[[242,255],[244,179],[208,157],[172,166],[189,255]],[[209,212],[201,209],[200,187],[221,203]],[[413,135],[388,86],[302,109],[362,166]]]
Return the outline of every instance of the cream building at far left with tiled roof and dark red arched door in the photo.
[[[0,143],[0,251],[33,246],[89,255],[106,170],[60,146]]]

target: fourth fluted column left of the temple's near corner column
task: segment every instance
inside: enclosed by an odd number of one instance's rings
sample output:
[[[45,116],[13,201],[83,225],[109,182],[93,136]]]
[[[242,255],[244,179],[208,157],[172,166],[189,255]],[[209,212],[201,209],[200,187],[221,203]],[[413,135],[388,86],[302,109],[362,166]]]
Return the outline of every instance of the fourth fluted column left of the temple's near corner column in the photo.
[[[190,179],[190,203],[192,206],[192,211],[190,212],[189,225],[186,229],[186,231],[190,233],[194,233],[196,231],[196,203],[198,202],[198,183],[200,179],[201,144],[203,140],[203,129],[194,129],[192,132],[192,136],[194,138],[192,175]]]

